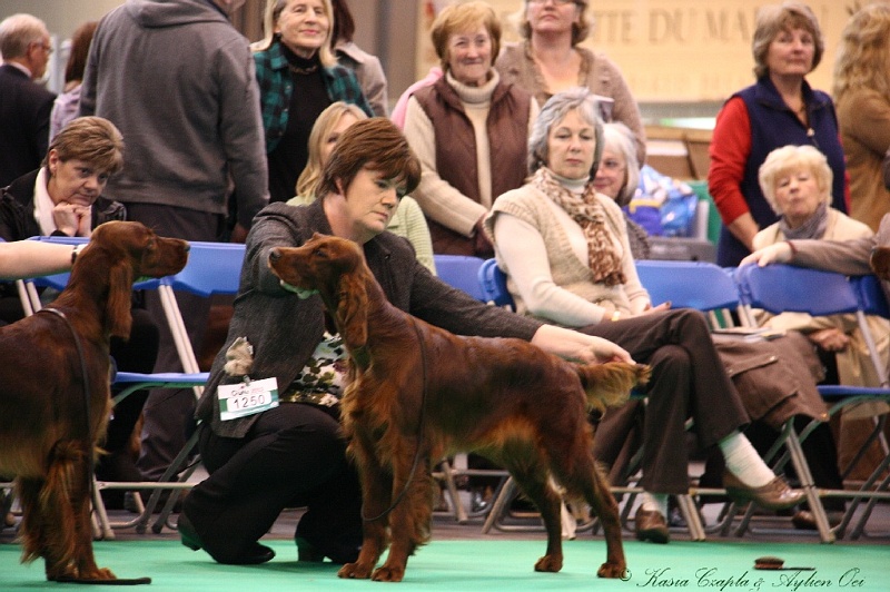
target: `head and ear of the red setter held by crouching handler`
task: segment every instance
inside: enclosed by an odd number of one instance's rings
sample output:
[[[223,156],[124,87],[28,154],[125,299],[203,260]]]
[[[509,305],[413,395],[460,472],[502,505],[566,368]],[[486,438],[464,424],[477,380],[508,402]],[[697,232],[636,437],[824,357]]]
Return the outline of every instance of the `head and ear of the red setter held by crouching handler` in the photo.
[[[365,256],[353,240],[316,233],[300,247],[276,247],[269,267],[289,288],[318,293],[350,348],[367,342]],[[368,272],[369,273],[369,272]]]

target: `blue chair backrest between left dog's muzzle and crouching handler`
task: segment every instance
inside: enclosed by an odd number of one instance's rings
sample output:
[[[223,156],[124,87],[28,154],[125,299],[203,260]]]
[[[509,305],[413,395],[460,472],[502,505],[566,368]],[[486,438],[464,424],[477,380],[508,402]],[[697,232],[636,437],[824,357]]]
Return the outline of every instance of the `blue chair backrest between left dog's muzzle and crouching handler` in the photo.
[[[162,283],[199,296],[237,294],[245,246],[237,243],[189,241],[188,264]]]

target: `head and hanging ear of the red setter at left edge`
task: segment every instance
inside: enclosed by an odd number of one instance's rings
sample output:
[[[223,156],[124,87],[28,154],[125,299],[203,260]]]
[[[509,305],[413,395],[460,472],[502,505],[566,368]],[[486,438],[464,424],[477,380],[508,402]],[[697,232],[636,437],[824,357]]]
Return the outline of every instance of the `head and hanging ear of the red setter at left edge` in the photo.
[[[76,277],[108,273],[106,303],[109,333],[130,335],[132,284],[140,277],[164,277],[180,272],[188,262],[188,243],[157,236],[137,221],[108,221],[96,227],[71,270]]]

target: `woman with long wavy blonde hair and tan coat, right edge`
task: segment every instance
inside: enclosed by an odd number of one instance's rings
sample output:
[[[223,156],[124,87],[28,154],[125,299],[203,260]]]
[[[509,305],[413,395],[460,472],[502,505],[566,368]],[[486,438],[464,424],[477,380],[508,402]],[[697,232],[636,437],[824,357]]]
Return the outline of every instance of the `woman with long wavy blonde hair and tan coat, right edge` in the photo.
[[[868,4],[843,28],[833,87],[850,174],[850,216],[877,231],[890,211],[881,170],[890,146],[890,4]]]

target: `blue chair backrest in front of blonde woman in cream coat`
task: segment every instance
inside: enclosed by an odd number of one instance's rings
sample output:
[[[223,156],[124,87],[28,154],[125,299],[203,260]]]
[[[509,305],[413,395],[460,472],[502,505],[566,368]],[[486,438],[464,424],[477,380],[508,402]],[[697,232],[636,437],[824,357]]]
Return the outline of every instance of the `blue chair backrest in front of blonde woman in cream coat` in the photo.
[[[859,309],[856,293],[841,274],[783,264],[745,265],[736,269],[735,279],[745,304],[772,314],[827,316]]]

